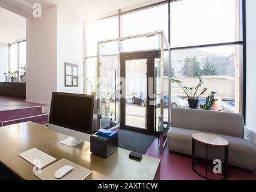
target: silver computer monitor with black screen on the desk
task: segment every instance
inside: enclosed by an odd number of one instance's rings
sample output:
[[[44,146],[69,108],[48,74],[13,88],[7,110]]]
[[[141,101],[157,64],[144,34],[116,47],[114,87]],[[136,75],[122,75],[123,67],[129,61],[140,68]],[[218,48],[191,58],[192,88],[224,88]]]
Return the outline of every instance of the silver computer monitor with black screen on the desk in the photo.
[[[93,95],[53,92],[49,130],[70,136],[60,142],[67,146],[89,142],[93,134],[93,110]]]

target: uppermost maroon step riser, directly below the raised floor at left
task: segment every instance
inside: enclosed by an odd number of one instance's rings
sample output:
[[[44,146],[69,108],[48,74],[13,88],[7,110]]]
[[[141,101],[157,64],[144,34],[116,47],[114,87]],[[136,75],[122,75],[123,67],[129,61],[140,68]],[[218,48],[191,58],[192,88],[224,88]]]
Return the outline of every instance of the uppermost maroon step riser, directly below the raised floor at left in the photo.
[[[0,111],[0,119],[5,117],[17,117],[25,114],[40,115],[42,113],[42,106],[25,107],[22,109],[4,110]],[[0,120],[1,121],[1,120]]]

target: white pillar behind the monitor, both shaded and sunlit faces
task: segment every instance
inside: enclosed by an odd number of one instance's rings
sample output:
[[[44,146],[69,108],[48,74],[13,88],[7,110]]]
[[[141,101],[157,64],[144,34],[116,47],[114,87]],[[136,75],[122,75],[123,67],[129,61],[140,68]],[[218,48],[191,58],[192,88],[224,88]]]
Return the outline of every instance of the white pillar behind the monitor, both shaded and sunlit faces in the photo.
[[[83,93],[84,20],[61,6],[28,18],[26,100],[50,104],[53,91]],[[79,87],[65,87],[64,63],[79,65]]]

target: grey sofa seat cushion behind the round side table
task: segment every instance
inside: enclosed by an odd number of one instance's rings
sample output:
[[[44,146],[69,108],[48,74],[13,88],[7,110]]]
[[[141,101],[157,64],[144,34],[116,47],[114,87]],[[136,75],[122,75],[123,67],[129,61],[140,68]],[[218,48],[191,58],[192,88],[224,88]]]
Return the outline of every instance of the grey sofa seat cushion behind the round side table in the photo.
[[[182,154],[192,154],[192,134],[206,133],[204,131],[189,130],[171,127],[168,131],[168,149]],[[215,133],[212,133],[215,134]],[[256,148],[248,140],[216,134],[229,142],[229,164],[254,170],[256,167]],[[209,146],[208,157],[210,160],[220,159],[224,162],[224,147]],[[197,157],[206,158],[206,145],[196,142],[195,154]]]

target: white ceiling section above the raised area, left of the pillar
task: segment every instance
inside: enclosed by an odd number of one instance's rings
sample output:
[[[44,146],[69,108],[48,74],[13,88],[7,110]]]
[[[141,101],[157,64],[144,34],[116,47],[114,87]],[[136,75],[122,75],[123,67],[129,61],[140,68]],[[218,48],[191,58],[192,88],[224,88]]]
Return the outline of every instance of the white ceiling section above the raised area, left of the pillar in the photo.
[[[0,7],[0,43],[26,38],[26,19]]]

